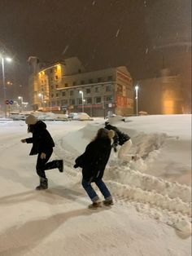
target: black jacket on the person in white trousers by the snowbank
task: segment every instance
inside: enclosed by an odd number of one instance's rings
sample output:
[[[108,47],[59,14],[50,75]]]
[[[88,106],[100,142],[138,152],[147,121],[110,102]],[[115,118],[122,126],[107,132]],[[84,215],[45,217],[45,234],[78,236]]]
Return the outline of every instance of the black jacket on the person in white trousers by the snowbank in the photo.
[[[107,125],[105,126],[105,129],[115,131],[115,136],[113,137],[112,143],[113,148],[116,148],[118,145],[122,146],[126,141],[131,139],[129,135],[124,134],[124,132],[117,129],[116,126]]]

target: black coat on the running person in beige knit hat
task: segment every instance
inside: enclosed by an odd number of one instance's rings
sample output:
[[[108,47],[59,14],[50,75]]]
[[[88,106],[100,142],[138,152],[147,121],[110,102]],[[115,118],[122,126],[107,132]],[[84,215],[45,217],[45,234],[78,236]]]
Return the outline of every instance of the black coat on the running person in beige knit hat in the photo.
[[[46,124],[43,121],[37,121],[33,125],[33,137],[26,139],[27,143],[33,143],[33,147],[29,155],[37,155],[41,152],[50,152],[55,147],[54,140],[46,130]]]

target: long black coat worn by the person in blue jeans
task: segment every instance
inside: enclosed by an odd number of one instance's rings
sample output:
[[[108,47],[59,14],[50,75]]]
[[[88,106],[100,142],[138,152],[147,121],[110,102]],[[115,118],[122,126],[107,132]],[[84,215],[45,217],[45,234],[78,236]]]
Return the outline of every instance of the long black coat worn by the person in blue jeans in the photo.
[[[103,173],[111,153],[111,139],[94,139],[85,152],[76,158],[76,167],[82,168],[83,178],[95,182],[103,178]]]

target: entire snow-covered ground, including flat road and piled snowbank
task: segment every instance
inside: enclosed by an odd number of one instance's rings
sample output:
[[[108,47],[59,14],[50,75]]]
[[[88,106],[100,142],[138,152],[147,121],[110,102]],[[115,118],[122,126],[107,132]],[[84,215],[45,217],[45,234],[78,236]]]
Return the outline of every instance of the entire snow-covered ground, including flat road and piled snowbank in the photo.
[[[0,119],[0,255],[191,254],[191,116],[128,117],[117,126],[140,158],[123,162],[111,152],[104,180],[115,205],[88,210],[81,169],[84,152],[104,120],[46,121],[55,139],[52,159],[64,173],[46,171],[49,189],[37,192],[37,156],[29,157],[24,121]],[[102,198],[102,196],[101,196]]]

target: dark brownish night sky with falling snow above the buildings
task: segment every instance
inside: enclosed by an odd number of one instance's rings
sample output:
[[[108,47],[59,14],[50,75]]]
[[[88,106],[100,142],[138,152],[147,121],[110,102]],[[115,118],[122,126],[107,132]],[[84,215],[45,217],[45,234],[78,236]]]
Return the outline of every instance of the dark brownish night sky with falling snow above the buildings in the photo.
[[[190,0],[0,0],[0,51],[14,57],[7,90],[26,90],[30,55],[77,56],[88,71],[125,65],[135,80],[150,76],[160,68],[156,46],[190,41],[190,19]]]

